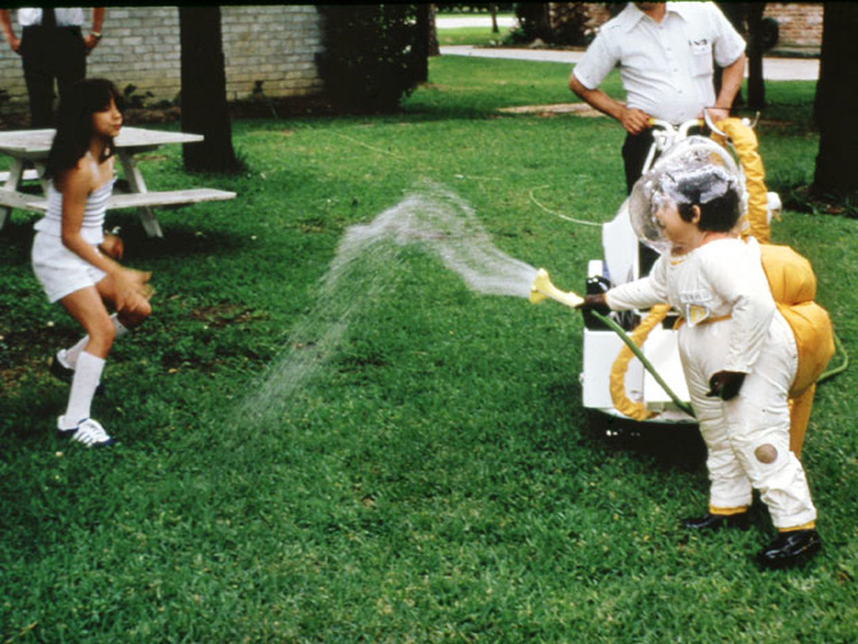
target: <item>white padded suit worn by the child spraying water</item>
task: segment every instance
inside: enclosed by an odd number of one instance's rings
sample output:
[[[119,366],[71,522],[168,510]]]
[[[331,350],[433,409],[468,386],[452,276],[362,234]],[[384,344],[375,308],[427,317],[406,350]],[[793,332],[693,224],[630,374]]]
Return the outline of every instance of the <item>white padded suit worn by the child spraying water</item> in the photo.
[[[714,240],[678,257],[662,255],[650,276],[607,292],[613,309],[659,302],[685,320],[680,357],[709,452],[710,512],[749,507],[756,488],[777,528],[813,521],[804,470],[789,451],[795,338],[771,297],[757,241]],[[747,374],[730,400],[706,395],[719,371]]]

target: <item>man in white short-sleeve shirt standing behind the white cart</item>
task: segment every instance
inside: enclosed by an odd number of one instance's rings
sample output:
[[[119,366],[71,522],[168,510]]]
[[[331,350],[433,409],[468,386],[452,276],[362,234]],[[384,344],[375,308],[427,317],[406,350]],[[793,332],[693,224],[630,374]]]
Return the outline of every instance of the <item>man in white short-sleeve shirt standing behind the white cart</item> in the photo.
[[[723,69],[715,94],[714,64]],[[625,105],[599,85],[619,67]],[[628,3],[602,25],[569,87],[597,110],[616,118],[628,135],[623,145],[628,192],[640,177],[652,143],[650,117],[674,125],[728,116],[745,73],[745,41],[714,3]]]

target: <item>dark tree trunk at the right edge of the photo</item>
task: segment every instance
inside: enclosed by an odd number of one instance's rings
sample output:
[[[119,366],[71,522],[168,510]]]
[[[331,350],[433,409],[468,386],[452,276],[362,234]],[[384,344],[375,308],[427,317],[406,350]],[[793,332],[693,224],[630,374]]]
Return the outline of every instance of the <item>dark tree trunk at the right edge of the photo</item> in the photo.
[[[814,116],[819,124],[819,155],[813,177],[817,196],[858,191],[858,3],[825,3],[822,52]]]

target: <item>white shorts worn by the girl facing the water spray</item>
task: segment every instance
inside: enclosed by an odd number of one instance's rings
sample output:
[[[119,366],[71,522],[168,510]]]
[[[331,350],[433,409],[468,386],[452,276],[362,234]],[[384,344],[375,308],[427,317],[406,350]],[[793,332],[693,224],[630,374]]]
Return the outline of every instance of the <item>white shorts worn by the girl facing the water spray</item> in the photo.
[[[96,252],[98,246],[93,245]],[[55,302],[76,290],[95,286],[107,273],[69,251],[55,234],[36,233],[33,239],[33,272],[45,289],[48,300]]]

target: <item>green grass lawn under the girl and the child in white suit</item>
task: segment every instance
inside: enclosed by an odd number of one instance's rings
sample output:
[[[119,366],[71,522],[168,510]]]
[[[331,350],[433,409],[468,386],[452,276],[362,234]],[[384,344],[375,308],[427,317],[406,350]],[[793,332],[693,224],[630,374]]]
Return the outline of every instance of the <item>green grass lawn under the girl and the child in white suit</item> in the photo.
[[[94,403],[120,441],[106,451],[53,434],[68,388],[46,361],[79,330],[45,301],[15,211],[0,641],[856,641],[854,368],[819,387],[803,456],[825,550],[762,574],[764,508],[748,532],[678,526],[705,509],[695,430],[608,439],[584,414],[579,315],[474,293],[420,246],[371,246],[331,280],[349,227],[431,181],[499,251],[581,289],[600,229],[563,217],[613,216],[622,131],[497,112],[571,100],[568,73],[433,59],[400,114],[234,122],[242,176],[189,178],[178,148],[142,159],[151,189],[239,197],[160,212],[163,240],[110,216],[157,293]],[[788,191],[813,177],[813,83],[767,90],[761,153]],[[855,226],[787,211],[773,229],[813,261],[852,355]]]

